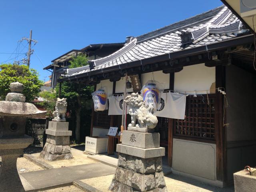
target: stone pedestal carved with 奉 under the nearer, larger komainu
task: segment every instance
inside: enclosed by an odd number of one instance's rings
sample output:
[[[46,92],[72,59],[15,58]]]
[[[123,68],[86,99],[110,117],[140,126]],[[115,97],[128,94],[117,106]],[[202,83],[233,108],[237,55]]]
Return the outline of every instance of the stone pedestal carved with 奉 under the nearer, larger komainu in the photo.
[[[118,167],[110,184],[113,192],[167,192],[162,172],[159,133],[124,131],[117,144]]]

